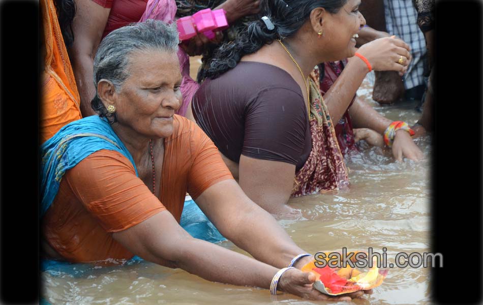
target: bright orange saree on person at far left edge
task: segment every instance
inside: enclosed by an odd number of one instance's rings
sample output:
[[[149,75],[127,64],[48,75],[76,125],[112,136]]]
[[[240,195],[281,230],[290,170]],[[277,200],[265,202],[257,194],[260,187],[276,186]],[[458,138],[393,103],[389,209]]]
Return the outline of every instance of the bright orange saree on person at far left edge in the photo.
[[[44,71],[41,78],[42,101],[40,143],[64,125],[81,119],[80,98],[74,73],[52,0],[40,0],[44,27]]]

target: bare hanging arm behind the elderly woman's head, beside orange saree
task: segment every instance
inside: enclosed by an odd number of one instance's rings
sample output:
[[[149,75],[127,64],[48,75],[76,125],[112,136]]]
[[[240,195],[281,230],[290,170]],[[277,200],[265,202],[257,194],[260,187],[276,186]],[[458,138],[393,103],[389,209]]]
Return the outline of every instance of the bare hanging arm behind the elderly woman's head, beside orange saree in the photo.
[[[101,42],[110,8],[103,8],[93,0],[76,0],[76,16],[73,21],[74,43],[69,56],[80,95],[83,117],[94,115],[90,101],[96,94],[93,65],[96,50]]]

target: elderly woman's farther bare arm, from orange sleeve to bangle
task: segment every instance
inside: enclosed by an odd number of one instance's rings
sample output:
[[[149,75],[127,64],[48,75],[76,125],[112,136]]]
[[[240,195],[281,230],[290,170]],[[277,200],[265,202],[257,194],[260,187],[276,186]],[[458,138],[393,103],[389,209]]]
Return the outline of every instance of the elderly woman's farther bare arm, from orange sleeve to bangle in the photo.
[[[282,268],[304,253],[275,218],[250,200],[233,180],[218,182],[196,202],[223,236],[260,261]]]

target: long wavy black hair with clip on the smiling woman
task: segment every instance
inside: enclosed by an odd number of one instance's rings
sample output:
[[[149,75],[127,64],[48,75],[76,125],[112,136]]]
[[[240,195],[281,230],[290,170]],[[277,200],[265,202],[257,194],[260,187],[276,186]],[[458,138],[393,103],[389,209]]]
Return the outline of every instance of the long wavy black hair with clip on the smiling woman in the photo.
[[[225,43],[215,52],[204,76],[216,78],[233,69],[241,57],[255,53],[276,39],[294,35],[309,19],[312,10],[324,8],[336,14],[346,3],[347,0],[262,0],[260,16],[267,16],[275,28],[269,30],[262,19],[250,23],[233,42]]]

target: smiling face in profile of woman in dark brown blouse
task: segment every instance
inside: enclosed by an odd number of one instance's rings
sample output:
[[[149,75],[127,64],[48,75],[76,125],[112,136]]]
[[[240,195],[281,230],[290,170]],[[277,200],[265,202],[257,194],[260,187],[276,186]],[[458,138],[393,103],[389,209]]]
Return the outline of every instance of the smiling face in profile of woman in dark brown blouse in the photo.
[[[337,14],[326,14],[323,38],[331,61],[354,56],[356,52],[354,35],[366,24],[359,12],[360,0],[348,0]]]

